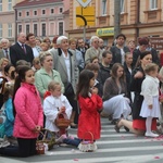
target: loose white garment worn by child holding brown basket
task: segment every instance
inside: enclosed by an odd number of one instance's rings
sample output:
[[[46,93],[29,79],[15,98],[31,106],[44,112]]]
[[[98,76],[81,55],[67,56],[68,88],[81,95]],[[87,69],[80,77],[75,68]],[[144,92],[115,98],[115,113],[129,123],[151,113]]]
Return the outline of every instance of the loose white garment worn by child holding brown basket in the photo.
[[[55,126],[54,121],[58,116],[59,110],[61,106],[65,106],[65,113],[67,117],[71,117],[72,114],[72,105],[65,96],[61,95],[61,97],[57,98],[53,96],[49,96],[43,101],[43,112],[46,115],[46,128],[51,131],[59,131],[59,128]]]

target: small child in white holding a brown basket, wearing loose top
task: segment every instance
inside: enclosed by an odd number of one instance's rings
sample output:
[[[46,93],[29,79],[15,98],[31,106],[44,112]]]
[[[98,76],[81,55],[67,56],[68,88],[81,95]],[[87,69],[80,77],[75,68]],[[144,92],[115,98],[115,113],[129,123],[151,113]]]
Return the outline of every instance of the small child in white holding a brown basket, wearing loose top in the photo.
[[[61,84],[54,80],[48,85],[49,96],[43,100],[43,112],[46,115],[46,128],[55,133],[59,137],[60,129],[55,125],[55,118],[60,113],[66,113],[67,117],[71,117],[72,105],[65,96],[61,91]]]

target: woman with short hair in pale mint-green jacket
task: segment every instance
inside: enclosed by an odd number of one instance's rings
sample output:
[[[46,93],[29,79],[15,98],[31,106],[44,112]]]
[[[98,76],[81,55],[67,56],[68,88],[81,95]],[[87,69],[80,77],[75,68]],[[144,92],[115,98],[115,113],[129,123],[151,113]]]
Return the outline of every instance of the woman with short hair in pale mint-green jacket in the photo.
[[[48,85],[51,80],[58,82],[62,86],[64,92],[64,85],[62,83],[60,73],[53,70],[53,58],[50,52],[40,52],[39,54],[41,68],[35,73],[35,85],[43,99],[45,92],[48,90]]]

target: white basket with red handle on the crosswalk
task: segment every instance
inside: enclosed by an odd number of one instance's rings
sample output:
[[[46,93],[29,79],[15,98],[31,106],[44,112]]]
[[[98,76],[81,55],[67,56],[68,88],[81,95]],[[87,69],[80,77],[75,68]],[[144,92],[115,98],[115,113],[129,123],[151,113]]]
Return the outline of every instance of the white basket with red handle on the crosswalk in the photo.
[[[87,134],[90,134],[91,135],[91,140],[86,140],[85,137]],[[82,151],[82,152],[93,152],[96,151],[98,148],[97,148],[97,145],[93,141],[93,135],[91,131],[86,131],[85,135],[84,135],[84,139],[80,141],[80,143],[78,145],[78,149]]]

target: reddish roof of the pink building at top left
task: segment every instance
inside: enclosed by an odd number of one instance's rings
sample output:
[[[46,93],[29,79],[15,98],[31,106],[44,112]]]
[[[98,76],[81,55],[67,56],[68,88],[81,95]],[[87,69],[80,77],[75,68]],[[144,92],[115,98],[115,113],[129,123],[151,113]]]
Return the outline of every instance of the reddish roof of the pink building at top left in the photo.
[[[63,0],[24,0],[17,3],[16,5],[14,5],[14,8],[38,5],[38,4],[43,4],[43,3],[62,2],[62,1]]]

